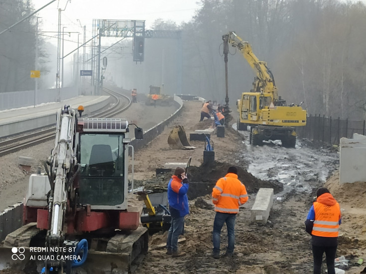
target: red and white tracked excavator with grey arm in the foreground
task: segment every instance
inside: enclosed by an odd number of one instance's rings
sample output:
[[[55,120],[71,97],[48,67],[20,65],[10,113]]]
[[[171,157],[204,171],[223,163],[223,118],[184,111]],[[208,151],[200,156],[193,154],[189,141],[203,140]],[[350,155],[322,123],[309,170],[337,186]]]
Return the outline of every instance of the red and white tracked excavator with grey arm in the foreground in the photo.
[[[8,261],[18,270],[16,263],[33,263],[38,271],[41,264],[38,273],[45,274],[130,272],[147,252],[148,233],[137,207],[127,205],[128,122],[78,118],[67,105],[57,117],[49,169],[30,176],[24,226],[4,241],[25,260],[10,255]],[[142,139],[137,126],[135,138]]]

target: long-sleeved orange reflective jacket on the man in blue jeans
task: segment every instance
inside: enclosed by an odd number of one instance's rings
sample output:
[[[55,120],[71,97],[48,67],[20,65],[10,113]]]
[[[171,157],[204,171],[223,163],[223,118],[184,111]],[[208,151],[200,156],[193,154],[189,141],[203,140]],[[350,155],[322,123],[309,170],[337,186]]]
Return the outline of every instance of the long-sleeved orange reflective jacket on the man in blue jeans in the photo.
[[[224,178],[220,178],[212,189],[215,211],[238,213],[239,206],[246,203],[247,200],[248,194],[245,186],[234,173],[228,173]]]

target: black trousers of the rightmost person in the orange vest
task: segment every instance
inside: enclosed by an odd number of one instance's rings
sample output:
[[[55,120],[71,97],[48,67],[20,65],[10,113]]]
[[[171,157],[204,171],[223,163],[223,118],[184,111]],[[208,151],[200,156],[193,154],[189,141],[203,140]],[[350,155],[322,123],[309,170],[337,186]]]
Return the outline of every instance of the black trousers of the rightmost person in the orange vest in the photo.
[[[334,259],[336,259],[337,246],[324,247],[313,245],[312,247],[314,258],[314,274],[320,274],[324,252],[327,262],[328,274],[336,274],[336,271],[334,270]]]

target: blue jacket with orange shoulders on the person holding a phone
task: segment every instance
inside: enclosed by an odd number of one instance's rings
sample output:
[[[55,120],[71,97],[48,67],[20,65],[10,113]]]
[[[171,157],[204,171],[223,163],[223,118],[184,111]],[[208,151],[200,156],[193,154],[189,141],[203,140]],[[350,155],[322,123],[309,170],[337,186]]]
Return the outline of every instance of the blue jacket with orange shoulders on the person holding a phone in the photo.
[[[177,176],[173,175],[168,183],[169,206],[179,210],[179,216],[183,217],[189,213],[188,191],[189,182],[184,179],[184,183]]]

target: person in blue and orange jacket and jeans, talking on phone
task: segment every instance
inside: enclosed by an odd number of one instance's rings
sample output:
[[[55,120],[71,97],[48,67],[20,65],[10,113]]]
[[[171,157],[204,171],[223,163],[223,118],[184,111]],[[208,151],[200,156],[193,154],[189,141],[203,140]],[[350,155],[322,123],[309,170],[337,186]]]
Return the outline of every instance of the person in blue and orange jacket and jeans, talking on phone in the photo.
[[[184,216],[189,213],[188,186],[185,170],[177,167],[168,183],[168,202],[172,220],[166,239],[166,254],[173,258],[186,255],[185,252],[178,252],[178,237],[184,232]]]

